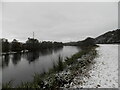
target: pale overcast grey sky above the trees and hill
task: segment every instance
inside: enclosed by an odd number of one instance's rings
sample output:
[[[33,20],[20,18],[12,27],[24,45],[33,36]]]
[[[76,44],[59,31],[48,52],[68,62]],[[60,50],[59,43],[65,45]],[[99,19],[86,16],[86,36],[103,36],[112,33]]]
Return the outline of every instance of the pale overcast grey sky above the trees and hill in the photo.
[[[118,28],[117,2],[4,2],[2,37],[79,41]]]

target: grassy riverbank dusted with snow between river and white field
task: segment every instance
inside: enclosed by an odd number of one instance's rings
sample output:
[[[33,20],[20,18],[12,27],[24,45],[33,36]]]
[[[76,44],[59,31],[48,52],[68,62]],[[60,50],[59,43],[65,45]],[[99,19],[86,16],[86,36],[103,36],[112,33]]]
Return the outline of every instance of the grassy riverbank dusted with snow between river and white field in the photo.
[[[85,75],[88,66],[93,64],[93,60],[97,56],[95,48],[96,47],[84,48],[82,51],[65,60],[59,57],[58,64],[54,64],[53,69],[49,72],[35,74],[32,82],[23,82],[15,88],[69,88],[74,81],[74,77],[77,75]],[[11,83],[3,85],[3,88],[12,87]]]

